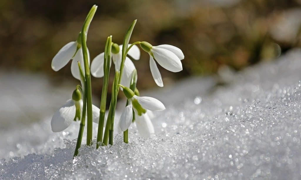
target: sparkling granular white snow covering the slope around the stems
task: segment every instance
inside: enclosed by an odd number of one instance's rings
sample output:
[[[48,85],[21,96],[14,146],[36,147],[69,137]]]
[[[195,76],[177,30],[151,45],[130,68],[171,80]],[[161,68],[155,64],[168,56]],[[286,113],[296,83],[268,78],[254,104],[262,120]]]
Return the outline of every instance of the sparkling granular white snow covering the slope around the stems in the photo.
[[[1,160],[0,179],[301,179],[300,59],[294,50],[222,87],[194,78],[159,90],[167,108],[152,120],[156,136],[141,138],[132,125],[129,144],[116,134],[113,146],[83,145],[74,160],[76,123],[61,133],[50,118],[4,131],[0,158],[25,156]]]

